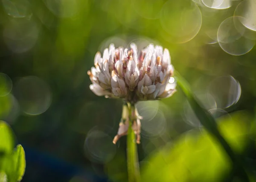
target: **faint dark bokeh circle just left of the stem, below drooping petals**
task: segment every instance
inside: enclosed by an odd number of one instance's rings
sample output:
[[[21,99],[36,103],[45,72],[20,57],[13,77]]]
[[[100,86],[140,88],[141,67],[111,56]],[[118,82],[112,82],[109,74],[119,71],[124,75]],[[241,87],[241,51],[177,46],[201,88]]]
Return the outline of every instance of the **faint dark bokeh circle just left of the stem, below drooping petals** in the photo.
[[[116,145],[113,145],[113,137],[108,133],[109,130],[97,126],[88,132],[84,142],[84,150],[89,160],[106,163],[113,159],[116,154]]]

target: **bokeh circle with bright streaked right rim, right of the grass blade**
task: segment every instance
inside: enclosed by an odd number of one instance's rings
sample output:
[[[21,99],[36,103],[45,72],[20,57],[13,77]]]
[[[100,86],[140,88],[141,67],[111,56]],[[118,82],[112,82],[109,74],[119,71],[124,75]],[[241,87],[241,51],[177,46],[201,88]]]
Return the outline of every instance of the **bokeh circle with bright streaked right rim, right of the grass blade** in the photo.
[[[207,94],[214,98],[217,108],[228,108],[238,102],[241,85],[232,76],[217,77],[210,82]]]

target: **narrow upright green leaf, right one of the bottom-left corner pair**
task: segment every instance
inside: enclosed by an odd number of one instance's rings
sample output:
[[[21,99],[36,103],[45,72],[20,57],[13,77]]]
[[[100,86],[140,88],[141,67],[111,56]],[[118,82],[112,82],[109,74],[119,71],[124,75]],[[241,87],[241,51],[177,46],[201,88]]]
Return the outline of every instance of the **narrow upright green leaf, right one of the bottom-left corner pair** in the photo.
[[[25,151],[20,144],[17,145],[12,155],[12,162],[13,162],[12,176],[15,176],[16,181],[20,182],[25,173],[25,168],[26,168]]]

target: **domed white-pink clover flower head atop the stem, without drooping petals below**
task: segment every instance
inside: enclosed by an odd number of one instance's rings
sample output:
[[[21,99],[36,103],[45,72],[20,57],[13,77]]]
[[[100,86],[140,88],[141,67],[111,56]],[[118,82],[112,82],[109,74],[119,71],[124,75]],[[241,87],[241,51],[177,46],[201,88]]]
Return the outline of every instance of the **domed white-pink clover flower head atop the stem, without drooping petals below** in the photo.
[[[99,52],[88,75],[94,94],[105,97],[120,97],[127,102],[156,100],[175,93],[175,83],[169,83],[174,68],[168,49],[149,44],[140,52],[131,43],[128,48],[105,48]]]

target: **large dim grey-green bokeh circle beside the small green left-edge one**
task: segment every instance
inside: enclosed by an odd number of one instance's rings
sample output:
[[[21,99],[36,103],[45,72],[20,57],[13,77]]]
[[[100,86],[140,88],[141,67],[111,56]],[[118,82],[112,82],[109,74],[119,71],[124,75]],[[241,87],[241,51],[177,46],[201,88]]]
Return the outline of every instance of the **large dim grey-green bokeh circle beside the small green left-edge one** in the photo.
[[[29,115],[44,113],[52,102],[49,85],[35,76],[23,77],[14,85],[14,94],[20,109]]]

